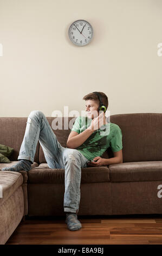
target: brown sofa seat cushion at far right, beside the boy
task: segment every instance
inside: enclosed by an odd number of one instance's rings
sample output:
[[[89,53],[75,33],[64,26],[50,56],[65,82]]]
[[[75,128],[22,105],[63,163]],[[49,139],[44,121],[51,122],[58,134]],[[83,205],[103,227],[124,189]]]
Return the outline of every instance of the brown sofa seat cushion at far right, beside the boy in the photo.
[[[153,181],[162,179],[162,161],[109,164],[111,182]]]

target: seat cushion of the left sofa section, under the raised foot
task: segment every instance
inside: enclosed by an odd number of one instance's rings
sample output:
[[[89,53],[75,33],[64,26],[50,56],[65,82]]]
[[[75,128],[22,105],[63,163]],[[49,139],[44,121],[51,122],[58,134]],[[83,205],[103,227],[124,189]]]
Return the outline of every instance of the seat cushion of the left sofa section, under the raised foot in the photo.
[[[5,170],[0,172],[0,185],[2,186],[2,197],[0,205],[3,204],[23,184],[23,176],[18,172]]]

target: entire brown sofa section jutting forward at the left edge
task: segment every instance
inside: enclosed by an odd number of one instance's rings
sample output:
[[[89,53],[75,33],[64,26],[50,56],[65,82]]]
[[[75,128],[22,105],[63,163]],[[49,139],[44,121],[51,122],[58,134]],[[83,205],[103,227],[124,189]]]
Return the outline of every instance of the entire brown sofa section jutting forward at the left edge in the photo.
[[[0,185],[3,188],[0,198],[0,244],[3,245],[28,212],[27,183],[23,184],[20,172],[6,170],[0,172]]]

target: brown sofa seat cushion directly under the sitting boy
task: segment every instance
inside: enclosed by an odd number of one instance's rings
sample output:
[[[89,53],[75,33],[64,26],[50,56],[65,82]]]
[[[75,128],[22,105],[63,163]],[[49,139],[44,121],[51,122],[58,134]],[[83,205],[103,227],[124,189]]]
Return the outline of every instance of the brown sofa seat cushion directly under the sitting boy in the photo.
[[[109,169],[103,167],[82,168],[81,183],[109,182]],[[61,183],[64,184],[64,169],[51,169],[47,163],[29,170],[28,183]]]

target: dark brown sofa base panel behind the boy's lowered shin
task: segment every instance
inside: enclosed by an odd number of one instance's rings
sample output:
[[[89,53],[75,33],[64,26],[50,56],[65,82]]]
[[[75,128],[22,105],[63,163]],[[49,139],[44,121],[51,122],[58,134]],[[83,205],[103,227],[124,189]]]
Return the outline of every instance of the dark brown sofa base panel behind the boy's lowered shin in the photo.
[[[28,184],[29,216],[64,216],[63,184]],[[79,215],[112,213],[110,182],[81,184]]]

